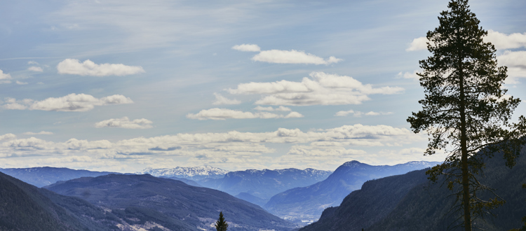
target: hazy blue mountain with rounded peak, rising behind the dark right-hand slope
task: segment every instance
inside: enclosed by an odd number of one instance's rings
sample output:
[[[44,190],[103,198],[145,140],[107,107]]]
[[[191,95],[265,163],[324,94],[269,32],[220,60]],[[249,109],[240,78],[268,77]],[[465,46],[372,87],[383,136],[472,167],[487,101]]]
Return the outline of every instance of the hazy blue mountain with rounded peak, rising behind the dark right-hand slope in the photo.
[[[323,209],[337,206],[346,195],[360,189],[365,181],[405,174],[437,164],[438,162],[417,161],[394,166],[372,166],[356,160],[346,162],[324,181],[274,195],[264,208],[282,218],[316,221]]]

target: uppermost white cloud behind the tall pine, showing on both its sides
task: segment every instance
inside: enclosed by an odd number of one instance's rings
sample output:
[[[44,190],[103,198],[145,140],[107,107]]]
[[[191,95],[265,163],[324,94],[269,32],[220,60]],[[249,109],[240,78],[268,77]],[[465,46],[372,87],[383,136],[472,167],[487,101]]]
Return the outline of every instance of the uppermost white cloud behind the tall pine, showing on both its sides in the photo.
[[[490,42],[495,45],[497,50],[526,48],[526,33],[503,34],[498,31],[488,30],[487,36],[483,38],[487,43]],[[426,37],[414,38],[407,51],[426,50],[428,40]]]

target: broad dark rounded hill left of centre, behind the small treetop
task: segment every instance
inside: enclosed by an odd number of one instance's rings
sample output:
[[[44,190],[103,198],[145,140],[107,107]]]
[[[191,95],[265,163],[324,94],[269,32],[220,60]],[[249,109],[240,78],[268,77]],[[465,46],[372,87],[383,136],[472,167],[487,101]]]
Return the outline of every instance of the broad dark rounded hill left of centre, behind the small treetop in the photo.
[[[83,177],[46,186],[79,197],[137,224],[156,223],[170,230],[215,230],[222,211],[229,230],[290,230],[295,225],[261,207],[210,188],[144,175]],[[128,221],[125,220],[125,221]]]

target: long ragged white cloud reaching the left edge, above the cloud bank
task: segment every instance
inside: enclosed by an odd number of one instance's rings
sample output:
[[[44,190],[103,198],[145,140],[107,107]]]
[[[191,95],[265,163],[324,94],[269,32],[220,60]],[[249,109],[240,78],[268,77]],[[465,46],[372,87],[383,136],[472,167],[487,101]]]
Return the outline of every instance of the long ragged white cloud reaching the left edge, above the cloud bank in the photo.
[[[95,106],[109,104],[133,104],[133,101],[121,94],[114,94],[97,99],[90,94],[68,94],[64,97],[50,97],[42,101],[33,99],[15,100],[8,98],[5,109],[42,110],[42,111],[90,111]]]

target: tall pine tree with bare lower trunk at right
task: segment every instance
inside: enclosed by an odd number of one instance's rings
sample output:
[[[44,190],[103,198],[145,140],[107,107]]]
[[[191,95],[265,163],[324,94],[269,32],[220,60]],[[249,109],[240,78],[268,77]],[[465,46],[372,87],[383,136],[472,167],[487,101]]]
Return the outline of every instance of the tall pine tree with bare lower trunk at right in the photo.
[[[440,13],[440,26],[427,33],[433,55],[419,62],[420,85],[425,98],[422,111],[407,118],[413,132],[426,131],[430,138],[424,155],[444,149],[447,158],[426,172],[433,182],[445,176],[447,187],[457,196],[461,225],[471,231],[472,221],[504,204],[497,195],[483,200],[480,191],[492,189],[478,181],[486,158],[503,155],[513,167],[526,139],[526,118],[511,123],[520,103],[502,88],[506,66],[497,66],[495,48],[485,43],[487,31],[469,10],[467,0],[452,0]],[[492,196],[493,197],[493,196]]]

